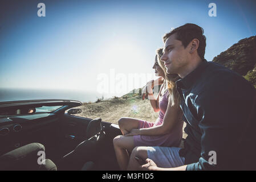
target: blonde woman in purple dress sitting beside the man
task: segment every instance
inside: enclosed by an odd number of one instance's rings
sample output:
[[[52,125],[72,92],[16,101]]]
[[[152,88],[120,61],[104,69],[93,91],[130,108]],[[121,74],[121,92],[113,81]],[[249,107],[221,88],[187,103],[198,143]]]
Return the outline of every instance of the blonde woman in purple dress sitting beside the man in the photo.
[[[162,48],[157,50],[153,69],[159,79],[148,82],[146,88],[154,111],[159,112],[155,123],[134,118],[120,118],[119,127],[123,135],[113,139],[117,163],[121,170],[127,169],[129,152],[136,146],[179,146],[182,139],[182,111],[178,106],[180,98],[174,81],[177,75],[167,75],[160,57]],[[164,80],[157,98],[153,96],[153,86]],[[144,96],[143,96],[144,98]]]

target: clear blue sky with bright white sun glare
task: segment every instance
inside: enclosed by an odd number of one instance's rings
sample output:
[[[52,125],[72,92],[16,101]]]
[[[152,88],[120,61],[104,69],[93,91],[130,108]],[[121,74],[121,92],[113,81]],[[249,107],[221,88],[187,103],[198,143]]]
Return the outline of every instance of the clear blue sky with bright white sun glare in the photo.
[[[40,2],[46,5],[46,17],[37,16]],[[211,2],[217,5],[217,17],[208,15]],[[107,75],[111,82],[113,70],[116,81],[122,77],[118,74],[153,76],[162,36],[185,23],[204,28],[205,58],[211,61],[238,40],[256,34],[255,5],[248,0],[3,0],[0,88],[96,92],[99,75]]]

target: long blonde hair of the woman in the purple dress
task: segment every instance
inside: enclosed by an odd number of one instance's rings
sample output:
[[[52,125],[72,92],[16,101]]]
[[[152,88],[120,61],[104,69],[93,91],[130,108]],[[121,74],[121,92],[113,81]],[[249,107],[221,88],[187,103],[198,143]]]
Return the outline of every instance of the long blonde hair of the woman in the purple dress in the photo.
[[[165,81],[167,83],[167,88],[169,91],[169,96],[172,101],[172,106],[179,105],[180,104],[180,94],[177,92],[176,89],[176,81],[180,79],[180,77],[177,74],[169,74],[166,72],[166,68],[164,66],[163,61],[161,61],[161,57],[163,55],[162,48],[159,48],[156,50],[157,54],[157,62],[159,63],[160,67],[164,71],[165,74]]]

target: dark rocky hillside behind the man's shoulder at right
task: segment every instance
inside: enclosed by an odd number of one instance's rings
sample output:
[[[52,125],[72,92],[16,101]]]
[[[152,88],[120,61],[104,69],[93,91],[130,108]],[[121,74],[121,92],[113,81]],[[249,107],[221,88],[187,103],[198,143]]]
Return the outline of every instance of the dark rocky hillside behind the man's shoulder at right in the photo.
[[[241,74],[256,88],[256,36],[239,40],[213,61]]]

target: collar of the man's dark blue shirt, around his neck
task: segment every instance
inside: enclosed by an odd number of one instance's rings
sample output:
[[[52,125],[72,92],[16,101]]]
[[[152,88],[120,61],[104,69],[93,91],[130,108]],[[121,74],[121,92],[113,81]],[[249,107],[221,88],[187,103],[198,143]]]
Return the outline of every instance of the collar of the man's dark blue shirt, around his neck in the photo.
[[[196,69],[194,69],[191,73],[189,73],[184,78],[177,80],[176,81],[177,88],[189,89],[194,84],[194,82],[197,81],[202,71],[204,71],[207,62],[208,61],[206,61],[206,59],[202,60],[202,63],[200,63]]]

